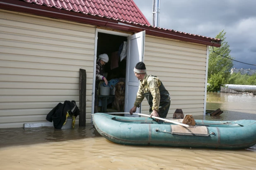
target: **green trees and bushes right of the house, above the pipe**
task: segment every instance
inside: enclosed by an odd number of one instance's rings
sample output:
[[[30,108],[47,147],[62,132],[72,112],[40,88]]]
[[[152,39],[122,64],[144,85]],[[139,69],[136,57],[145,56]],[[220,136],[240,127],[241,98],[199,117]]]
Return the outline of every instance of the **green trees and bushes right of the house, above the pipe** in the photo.
[[[226,32],[222,30],[215,38],[222,40],[222,45],[218,47],[209,47],[209,60],[208,60],[208,79],[207,86],[208,92],[217,92],[220,90],[220,86],[225,84],[234,85],[256,85],[256,74],[249,76],[247,74],[241,75],[241,73],[230,74],[230,70],[233,67],[233,59],[229,53],[229,45],[225,40]],[[216,53],[218,54],[216,54]],[[225,57],[222,57],[225,56]],[[228,59],[229,58],[229,59]]]

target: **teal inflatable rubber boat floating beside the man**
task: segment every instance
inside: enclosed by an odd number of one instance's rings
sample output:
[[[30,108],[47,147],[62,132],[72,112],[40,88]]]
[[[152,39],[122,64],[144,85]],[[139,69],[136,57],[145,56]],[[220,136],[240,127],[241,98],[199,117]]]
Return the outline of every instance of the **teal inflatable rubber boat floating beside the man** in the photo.
[[[152,118],[95,113],[92,119],[97,131],[117,144],[213,149],[246,149],[256,144],[256,120],[196,120],[195,128],[204,126],[208,131],[200,136],[175,134],[171,126],[175,124]]]

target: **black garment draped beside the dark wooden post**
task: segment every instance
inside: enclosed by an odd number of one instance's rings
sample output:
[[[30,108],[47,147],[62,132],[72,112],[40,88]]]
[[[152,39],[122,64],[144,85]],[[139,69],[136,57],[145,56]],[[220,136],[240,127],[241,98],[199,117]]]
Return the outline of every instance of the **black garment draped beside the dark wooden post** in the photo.
[[[65,123],[67,112],[70,114],[70,116],[77,117],[79,115],[80,110],[78,109],[74,100],[72,100],[71,102],[66,100],[63,104],[57,104],[57,106],[55,106],[47,114],[46,120],[48,120],[49,122],[53,121],[53,126],[56,129],[61,129],[63,123]]]

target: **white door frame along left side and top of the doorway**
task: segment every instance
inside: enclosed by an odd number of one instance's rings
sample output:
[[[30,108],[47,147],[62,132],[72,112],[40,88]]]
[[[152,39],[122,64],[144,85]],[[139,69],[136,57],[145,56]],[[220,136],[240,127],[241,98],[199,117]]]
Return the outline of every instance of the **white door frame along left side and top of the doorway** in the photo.
[[[110,31],[110,30],[105,30],[105,29],[100,29],[100,28],[96,28],[95,31],[95,43],[94,43],[94,64],[93,64],[93,82],[92,82],[92,112],[91,114],[94,114],[94,99],[95,99],[95,74],[96,74],[96,62],[97,62],[97,45],[98,45],[98,33],[106,33],[106,34],[112,34],[112,35],[120,35],[120,36],[124,36],[124,37],[128,37],[130,35],[133,35],[133,33],[121,33],[121,32],[116,32],[116,31]],[[92,118],[91,118],[91,122],[92,122]]]

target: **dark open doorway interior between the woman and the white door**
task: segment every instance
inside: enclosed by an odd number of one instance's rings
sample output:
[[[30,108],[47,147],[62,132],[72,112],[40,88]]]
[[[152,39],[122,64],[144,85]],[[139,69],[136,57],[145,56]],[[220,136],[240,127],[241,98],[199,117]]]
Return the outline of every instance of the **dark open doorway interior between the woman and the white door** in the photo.
[[[107,54],[109,57],[109,62],[103,66],[103,76],[108,80],[108,85],[103,80],[100,81],[97,91],[98,102],[94,104],[101,113],[124,112],[126,47],[127,36],[98,32],[97,60],[100,54]]]

